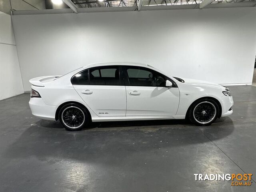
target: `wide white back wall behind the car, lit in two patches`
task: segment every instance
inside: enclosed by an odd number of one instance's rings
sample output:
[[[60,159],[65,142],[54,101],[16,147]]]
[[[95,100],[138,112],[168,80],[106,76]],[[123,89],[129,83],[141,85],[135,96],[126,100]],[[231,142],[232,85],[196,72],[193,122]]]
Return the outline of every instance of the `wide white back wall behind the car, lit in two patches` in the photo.
[[[251,83],[256,8],[15,15],[25,90],[94,62],[143,62],[172,76]]]

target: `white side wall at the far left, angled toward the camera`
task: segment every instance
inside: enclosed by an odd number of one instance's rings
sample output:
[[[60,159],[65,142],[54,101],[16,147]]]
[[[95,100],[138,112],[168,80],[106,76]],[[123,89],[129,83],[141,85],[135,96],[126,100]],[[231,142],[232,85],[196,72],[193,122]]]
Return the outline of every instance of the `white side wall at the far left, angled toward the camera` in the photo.
[[[24,93],[11,16],[0,12],[0,100]]]

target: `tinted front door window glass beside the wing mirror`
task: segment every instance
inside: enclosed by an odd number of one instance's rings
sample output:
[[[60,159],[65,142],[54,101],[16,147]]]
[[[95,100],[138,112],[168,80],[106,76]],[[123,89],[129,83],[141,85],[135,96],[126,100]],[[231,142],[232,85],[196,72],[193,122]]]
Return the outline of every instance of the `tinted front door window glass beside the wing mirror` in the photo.
[[[127,66],[130,86],[164,87],[165,76],[148,68]]]

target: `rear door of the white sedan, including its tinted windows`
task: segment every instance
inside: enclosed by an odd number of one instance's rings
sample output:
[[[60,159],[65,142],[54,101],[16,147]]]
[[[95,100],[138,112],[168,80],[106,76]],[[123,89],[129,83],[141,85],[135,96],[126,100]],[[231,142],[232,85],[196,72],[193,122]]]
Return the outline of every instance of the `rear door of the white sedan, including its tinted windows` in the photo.
[[[72,84],[97,116],[125,116],[126,91],[120,66],[89,68],[76,74]]]

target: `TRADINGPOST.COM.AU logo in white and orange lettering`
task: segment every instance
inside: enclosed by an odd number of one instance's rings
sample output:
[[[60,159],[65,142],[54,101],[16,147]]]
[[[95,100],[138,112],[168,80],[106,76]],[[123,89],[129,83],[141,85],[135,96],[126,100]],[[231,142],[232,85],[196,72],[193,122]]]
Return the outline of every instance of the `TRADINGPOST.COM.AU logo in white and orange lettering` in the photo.
[[[251,186],[252,174],[194,174],[196,181],[231,181],[231,186]]]

